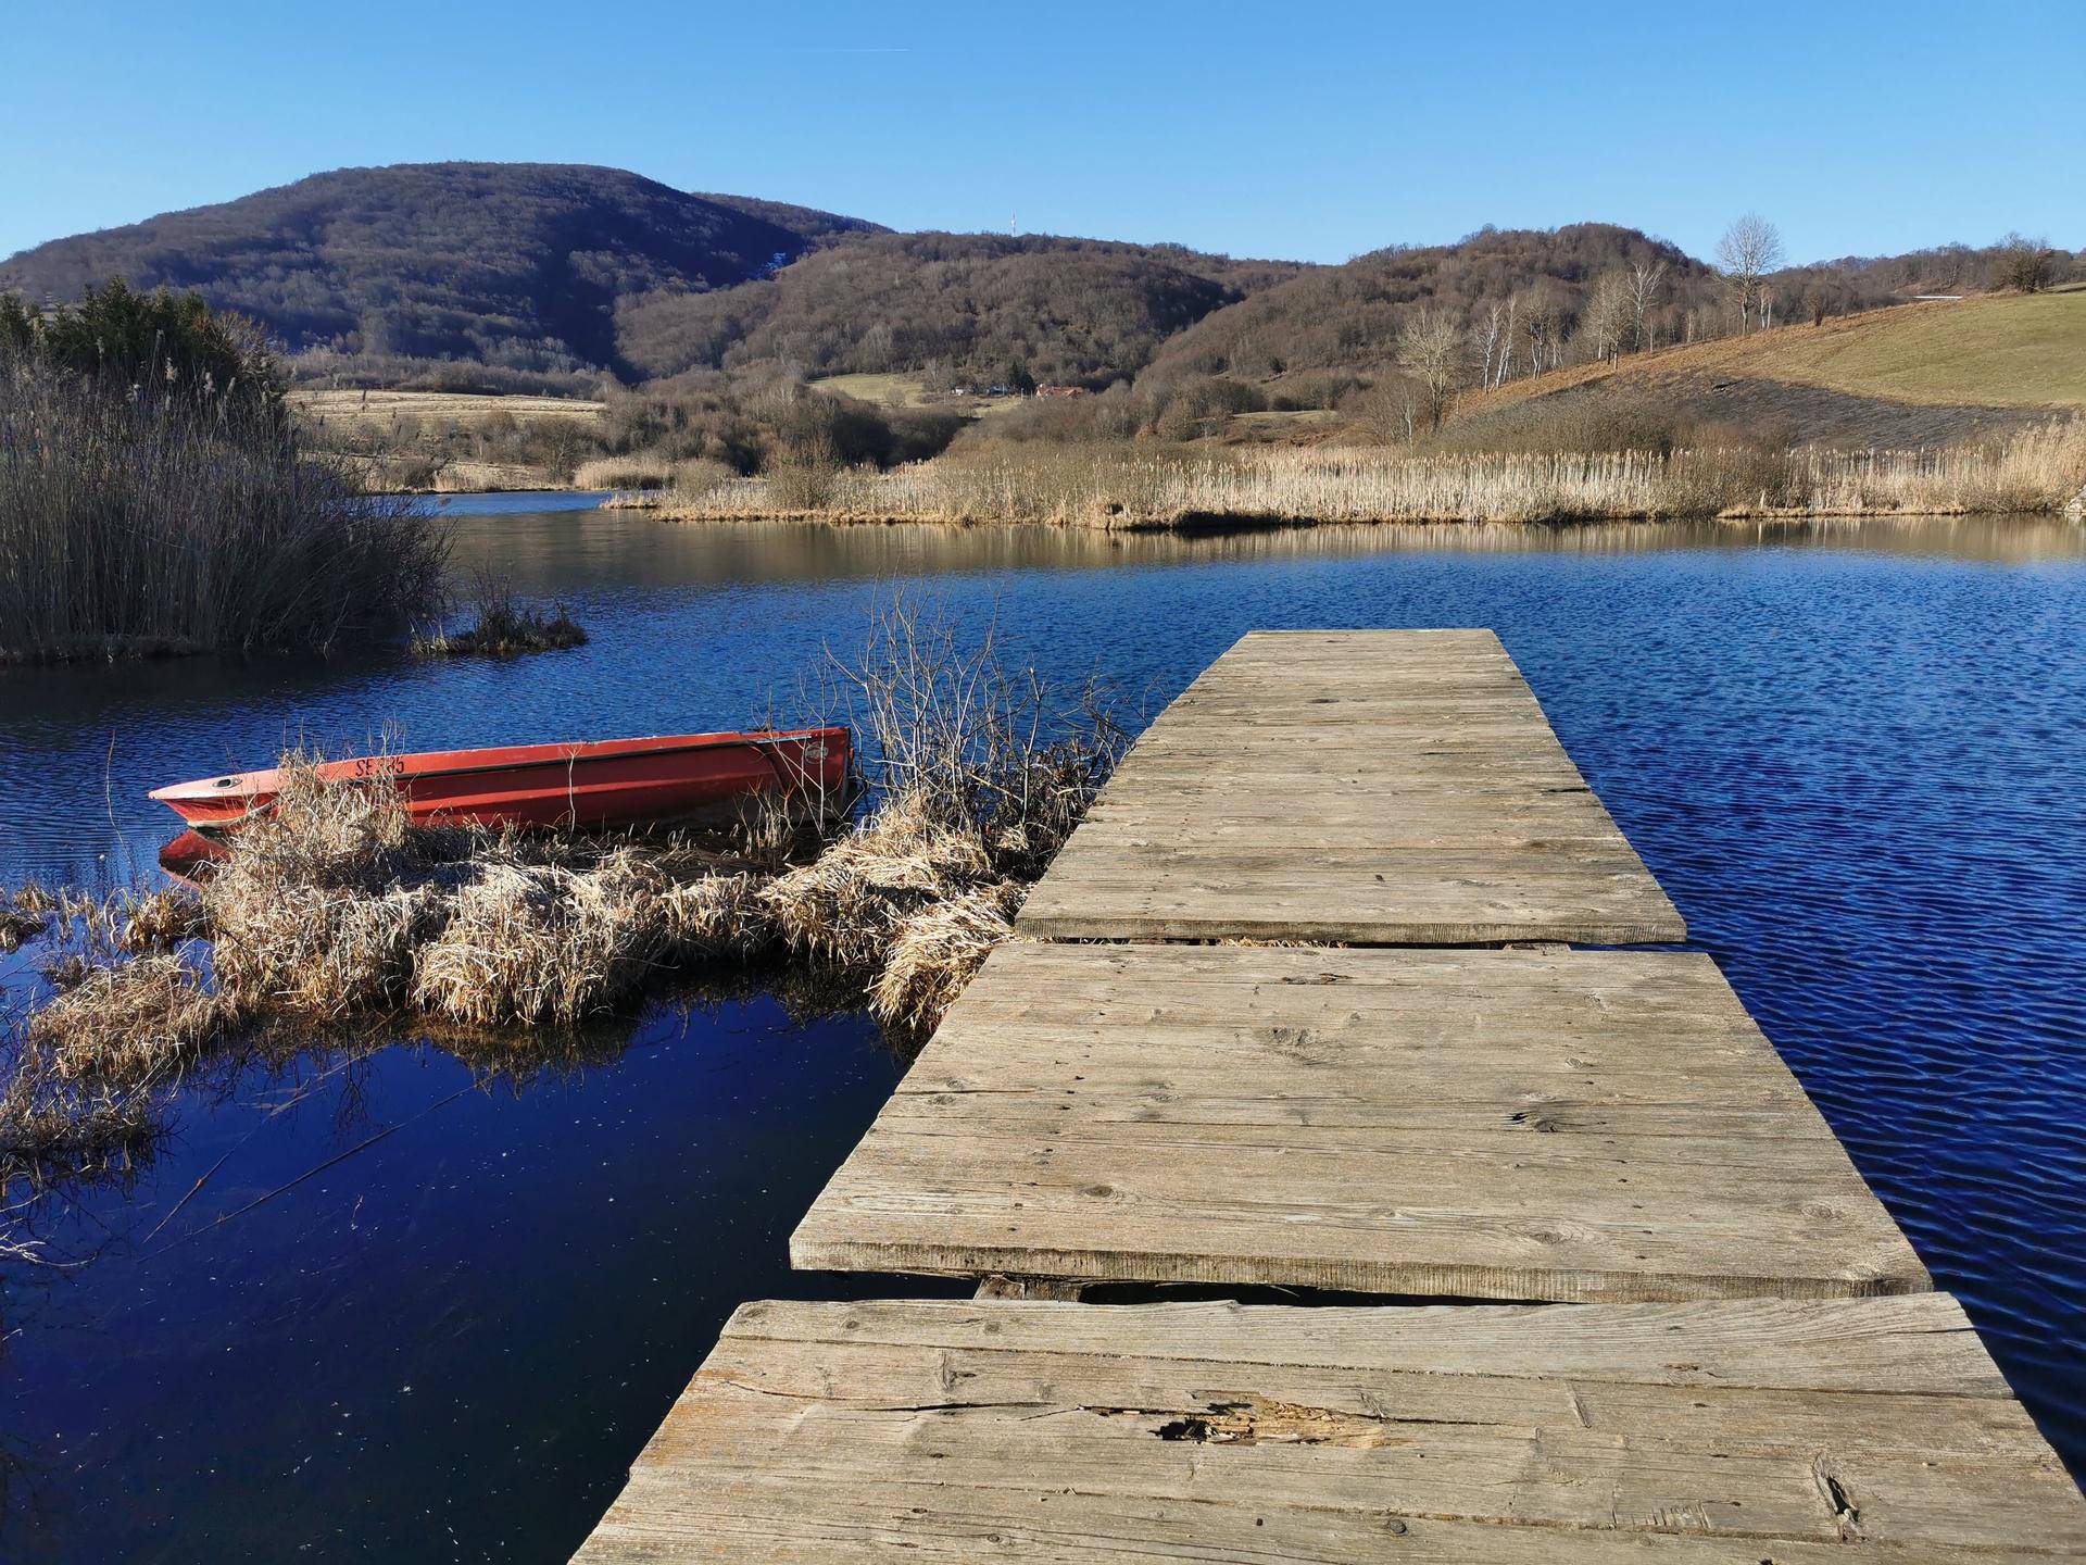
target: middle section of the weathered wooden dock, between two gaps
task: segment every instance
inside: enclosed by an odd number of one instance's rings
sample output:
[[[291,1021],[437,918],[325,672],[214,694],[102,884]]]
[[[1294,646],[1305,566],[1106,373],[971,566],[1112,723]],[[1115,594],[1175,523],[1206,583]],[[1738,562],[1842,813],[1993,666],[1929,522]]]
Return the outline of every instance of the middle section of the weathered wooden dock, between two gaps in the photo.
[[[1581,1302],[1932,1287],[1679,952],[1005,945],[791,1256]]]

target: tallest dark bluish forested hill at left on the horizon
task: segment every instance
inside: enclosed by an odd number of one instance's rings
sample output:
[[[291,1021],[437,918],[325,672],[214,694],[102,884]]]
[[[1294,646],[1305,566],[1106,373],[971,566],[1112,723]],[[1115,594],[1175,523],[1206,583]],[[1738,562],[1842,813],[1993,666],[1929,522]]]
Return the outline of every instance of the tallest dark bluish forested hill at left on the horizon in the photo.
[[[33,300],[75,298],[106,278],[196,288],[292,351],[330,348],[401,376],[438,359],[622,369],[617,300],[730,288],[874,227],[690,196],[622,169],[407,163],[54,240],[0,263],[0,288]]]

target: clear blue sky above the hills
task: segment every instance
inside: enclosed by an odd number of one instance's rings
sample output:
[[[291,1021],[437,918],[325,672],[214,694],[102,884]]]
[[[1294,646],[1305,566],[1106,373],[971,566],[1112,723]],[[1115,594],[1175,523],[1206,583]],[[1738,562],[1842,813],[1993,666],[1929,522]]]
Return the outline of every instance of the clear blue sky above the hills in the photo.
[[[0,255],[357,163],[1341,261],[1481,223],[2086,246],[2086,0],[10,0]]]

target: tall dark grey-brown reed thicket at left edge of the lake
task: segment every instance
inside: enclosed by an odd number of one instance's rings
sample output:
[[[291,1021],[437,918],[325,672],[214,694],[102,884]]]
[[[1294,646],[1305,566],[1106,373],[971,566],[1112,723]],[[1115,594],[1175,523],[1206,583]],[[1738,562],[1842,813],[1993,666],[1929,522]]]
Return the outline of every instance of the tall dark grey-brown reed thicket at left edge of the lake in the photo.
[[[325,651],[438,601],[440,526],[265,407],[0,357],[0,661]]]

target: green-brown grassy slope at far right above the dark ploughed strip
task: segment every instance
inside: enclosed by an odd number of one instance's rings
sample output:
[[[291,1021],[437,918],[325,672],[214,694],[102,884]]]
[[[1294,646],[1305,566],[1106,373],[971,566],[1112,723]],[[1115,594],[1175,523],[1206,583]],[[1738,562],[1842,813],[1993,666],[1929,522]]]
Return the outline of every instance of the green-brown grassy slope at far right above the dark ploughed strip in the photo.
[[[1521,380],[1464,399],[1458,411],[1577,386],[1656,386],[1702,374],[1921,407],[2086,407],[2086,290],[1896,305],[1823,326],[1694,342],[1615,367],[1575,365]]]

